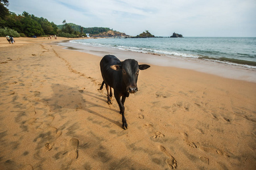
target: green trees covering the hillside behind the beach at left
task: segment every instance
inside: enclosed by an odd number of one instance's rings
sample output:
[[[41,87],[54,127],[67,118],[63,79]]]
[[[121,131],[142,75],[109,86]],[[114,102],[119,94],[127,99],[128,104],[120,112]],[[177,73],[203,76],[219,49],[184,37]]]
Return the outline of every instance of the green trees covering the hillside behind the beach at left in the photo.
[[[93,27],[84,28],[80,25],[67,23],[63,20],[63,25],[56,25],[46,18],[39,18],[24,11],[21,15],[10,12],[6,7],[8,0],[0,0],[0,36],[10,35],[13,37],[32,37],[57,35],[61,37],[81,37],[85,33],[98,34],[109,31],[109,28]]]

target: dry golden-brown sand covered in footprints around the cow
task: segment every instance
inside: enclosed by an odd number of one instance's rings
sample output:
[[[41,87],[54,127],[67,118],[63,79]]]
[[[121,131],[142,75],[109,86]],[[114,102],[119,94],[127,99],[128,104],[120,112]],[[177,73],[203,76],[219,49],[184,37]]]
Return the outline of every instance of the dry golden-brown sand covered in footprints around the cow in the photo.
[[[256,83],[151,65],[123,130],[98,90],[105,54],[14,40],[0,37],[0,169],[256,169]]]

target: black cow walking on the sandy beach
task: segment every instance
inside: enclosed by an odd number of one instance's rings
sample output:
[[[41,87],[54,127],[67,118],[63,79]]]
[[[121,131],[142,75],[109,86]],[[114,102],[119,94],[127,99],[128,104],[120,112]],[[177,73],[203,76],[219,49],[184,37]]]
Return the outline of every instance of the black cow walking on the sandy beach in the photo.
[[[102,90],[104,83],[106,84],[106,90],[108,92],[108,103],[112,104],[112,90],[114,89],[114,96],[120,108],[120,114],[122,114],[123,129],[127,129],[127,122],[125,119],[125,103],[126,97],[129,94],[134,94],[138,91],[137,80],[139,70],[145,70],[149,65],[139,65],[135,59],[126,59],[120,61],[117,57],[112,55],[106,55],[101,59],[101,75],[103,82],[100,90]],[[109,93],[110,86],[110,93]],[[122,97],[122,99],[121,99]]]

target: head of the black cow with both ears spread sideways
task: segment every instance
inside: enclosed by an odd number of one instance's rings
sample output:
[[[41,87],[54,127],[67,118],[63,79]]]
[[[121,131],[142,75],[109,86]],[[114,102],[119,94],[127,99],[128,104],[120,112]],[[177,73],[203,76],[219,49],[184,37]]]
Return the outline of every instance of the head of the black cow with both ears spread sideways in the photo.
[[[122,71],[122,79],[126,86],[126,91],[134,94],[138,91],[137,80],[139,70],[146,70],[149,65],[139,65],[135,59],[126,59],[121,62],[121,65],[110,66],[113,70]]]

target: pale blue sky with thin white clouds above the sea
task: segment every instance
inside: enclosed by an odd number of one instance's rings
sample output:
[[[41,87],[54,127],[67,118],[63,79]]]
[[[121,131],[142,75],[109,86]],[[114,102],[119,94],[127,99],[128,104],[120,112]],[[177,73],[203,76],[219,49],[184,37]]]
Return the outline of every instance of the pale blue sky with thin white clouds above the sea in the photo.
[[[108,27],[136,36],[256,37],[255,0],[9,0],[23,11],[59,25]]]

